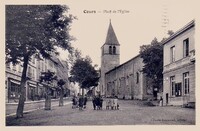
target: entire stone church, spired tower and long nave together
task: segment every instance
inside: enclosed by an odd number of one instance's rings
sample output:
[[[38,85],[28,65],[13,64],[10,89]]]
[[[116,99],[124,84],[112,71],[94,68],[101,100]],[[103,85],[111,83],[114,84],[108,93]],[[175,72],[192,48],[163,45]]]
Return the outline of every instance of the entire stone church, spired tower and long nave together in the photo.
[[[140,55],[120,65],[120,43],[110,21],[105,43],[101,47],[101,95],[141,100],[152,97],[151,84],[142,72],[143,65]]]

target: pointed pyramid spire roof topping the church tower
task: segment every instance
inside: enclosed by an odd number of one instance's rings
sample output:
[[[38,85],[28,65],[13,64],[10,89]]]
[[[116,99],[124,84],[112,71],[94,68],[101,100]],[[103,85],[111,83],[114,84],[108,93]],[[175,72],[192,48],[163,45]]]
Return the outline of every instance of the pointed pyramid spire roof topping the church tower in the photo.
[[[119,42],[117,40],[117,37],[115,35],[114,29],[112,27],[111,21],[108,27],[108,32],[107,32],[107,37],[106,37],[106,41],[105,44],[109,44],[109,45],[119,45]]]

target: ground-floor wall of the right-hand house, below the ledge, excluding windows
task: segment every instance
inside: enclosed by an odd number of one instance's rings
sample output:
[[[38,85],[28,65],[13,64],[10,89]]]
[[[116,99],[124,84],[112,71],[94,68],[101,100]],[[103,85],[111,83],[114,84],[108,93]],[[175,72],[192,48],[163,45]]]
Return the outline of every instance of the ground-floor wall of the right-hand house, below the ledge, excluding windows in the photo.
[[[184,95],[183,88],[183,73],[189,72],[189,95]],[[175,76],[175,82],[181,83],[182,85],[182,95],[179,97],[172,96],[172,89],[170,85],[170,77]],[[188,64],[176,70],[165,73],[163,76],[164,79],[164,90],[163,90],[163,100],[166,105],[166,94],[169,94],[168,104],[169,105],[183,105],[187,102],[195,102],[195,64]]]

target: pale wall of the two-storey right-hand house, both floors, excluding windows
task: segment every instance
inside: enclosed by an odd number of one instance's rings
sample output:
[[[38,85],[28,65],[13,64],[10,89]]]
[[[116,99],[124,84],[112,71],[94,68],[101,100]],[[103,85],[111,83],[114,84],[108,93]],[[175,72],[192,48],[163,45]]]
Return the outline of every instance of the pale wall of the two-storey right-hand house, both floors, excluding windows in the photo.
[[[164,104],[183,105],[195,102],[195,61],[191,61],[191,54],[184,57],[183,41],[189,38],[189,52],[195,51],[195,28],[187,29],[185,32],[172,39],[164,45],[164,70],[163,70],[163,99]],[[175,61],[170,61],[170,48],[175,46]],[[184,94],[183,73],[189,72],[189,94]],[[170,77],[175,76],[175,83],[181,83],[181,96],[172,96]],[[168,103],[167,96],[168,94]]]

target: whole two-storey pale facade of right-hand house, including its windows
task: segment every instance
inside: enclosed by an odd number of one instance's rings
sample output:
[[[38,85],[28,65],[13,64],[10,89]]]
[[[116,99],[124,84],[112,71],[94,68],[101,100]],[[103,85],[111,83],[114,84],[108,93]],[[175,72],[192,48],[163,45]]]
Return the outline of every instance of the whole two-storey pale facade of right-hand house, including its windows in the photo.
[[[195,103],[195,22],[175,32],[164,44],[165,105]]]

